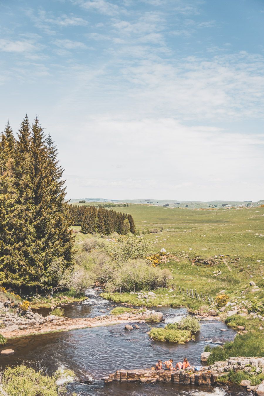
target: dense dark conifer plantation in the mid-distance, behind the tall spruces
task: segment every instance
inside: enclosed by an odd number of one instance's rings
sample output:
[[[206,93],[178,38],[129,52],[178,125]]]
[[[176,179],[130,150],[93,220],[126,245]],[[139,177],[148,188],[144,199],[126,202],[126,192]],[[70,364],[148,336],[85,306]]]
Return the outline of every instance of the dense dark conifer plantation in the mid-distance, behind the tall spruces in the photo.
[[[116,212],[105,208],[95,208],[95,206],[69,205],[68,211],[73,225],[81,226],[84,234],[110,235],[115,231],[118,234],[135,234],[136,227],[134,219],[130,214]]]

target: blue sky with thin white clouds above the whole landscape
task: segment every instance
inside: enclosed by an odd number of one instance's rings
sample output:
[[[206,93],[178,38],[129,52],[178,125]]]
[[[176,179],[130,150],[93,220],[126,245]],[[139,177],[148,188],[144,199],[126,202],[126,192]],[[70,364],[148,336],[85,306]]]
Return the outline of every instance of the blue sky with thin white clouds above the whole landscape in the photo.
[[[0,0],[0,131],[67,198],[264,199],[263,0]]]

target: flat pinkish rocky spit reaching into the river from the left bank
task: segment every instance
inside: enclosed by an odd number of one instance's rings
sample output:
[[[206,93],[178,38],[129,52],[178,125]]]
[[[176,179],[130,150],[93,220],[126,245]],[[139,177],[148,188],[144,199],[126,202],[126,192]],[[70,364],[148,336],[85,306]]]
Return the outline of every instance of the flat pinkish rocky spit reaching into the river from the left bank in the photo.
[[[4,308],[6,312],[0,314],[0,333],[6,337],[21,337],[29,334],[49,333],[51,331],[67,331],[83,329],[85,327],[108,326],[127,322],[144,322],[154,313],[162,320],[162,313],[150,310],[142,312],[124,313],[120,315],[101,315],[95,318],[62,318],[48,315],[44,317],[38,313],[33,313],[31,309],[24,312],[11,312]],[[2,310],[3,311],[3,310]]]

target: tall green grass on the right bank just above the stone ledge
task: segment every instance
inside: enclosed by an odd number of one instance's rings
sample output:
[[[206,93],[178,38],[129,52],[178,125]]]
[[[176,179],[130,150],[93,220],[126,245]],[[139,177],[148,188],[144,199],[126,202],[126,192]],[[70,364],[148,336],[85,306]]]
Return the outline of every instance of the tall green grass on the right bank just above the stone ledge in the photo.
[[[232,356],[264,356],[264,335],[260,331],[249,331],[237,334],[234,341],[228,341],[223,346],[211,347],[207,345],[205,352],[211,352],[207,363],[224,361]]]

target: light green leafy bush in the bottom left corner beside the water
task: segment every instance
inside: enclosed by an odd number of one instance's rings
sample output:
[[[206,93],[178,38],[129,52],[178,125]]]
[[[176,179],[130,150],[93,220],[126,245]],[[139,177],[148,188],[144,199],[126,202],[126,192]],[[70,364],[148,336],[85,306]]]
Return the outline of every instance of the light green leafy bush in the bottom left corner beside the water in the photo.
[[[2,374],[3,394],[8,396],[61,396],[66,395],[65,386],[57,386],[56,377],[48,377],[31,367],[7,367]]]

